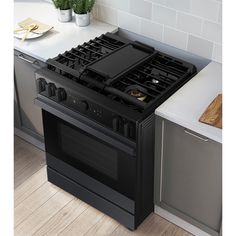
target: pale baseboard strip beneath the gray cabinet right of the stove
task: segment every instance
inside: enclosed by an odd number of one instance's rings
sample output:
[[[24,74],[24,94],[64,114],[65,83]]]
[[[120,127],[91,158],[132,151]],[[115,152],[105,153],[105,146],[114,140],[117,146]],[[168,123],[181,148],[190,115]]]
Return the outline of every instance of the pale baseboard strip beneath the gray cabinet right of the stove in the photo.
[[[173,215],[172,213],[162,209],[159,206],[155,206],[155,214],[161,216],[162,218],[170,221],[171,223],[179,226],[180,228],[188,231],[189,233],[195,236],[211,236],[210,234],[204,232],[203,230],[197,228],[194,225],[186,222],[185,220],[179,218],[178,216]]]

